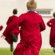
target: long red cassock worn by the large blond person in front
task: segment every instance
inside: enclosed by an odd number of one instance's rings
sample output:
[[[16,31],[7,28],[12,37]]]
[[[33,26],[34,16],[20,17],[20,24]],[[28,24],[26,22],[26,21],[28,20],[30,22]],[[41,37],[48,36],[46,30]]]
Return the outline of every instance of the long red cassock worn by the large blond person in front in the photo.
[[[45,24],[42,20],[42,17],[34,11],[24,13],[10,24],[3,34],[6,35],[13,27],[17,25],[21,26],[21,40],[13,54],[39,55],[42,45],[41,31],[45,30]]]

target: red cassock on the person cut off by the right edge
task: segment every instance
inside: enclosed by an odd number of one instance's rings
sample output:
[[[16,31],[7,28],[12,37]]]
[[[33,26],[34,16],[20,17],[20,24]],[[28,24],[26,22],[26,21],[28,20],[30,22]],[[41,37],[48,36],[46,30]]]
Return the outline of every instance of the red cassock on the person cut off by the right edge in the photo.
[[[50,45],[51,47],[55,47],[55,19],[50,19],[47,25],[51,27],[50,31]]]

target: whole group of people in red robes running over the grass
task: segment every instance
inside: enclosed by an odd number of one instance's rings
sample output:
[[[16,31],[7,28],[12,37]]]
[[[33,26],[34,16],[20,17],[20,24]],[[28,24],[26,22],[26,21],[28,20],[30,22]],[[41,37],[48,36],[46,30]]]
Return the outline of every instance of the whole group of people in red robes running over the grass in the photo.
[[[16,16],[17,9],[13,10],[13,16],[10,16],[7,21],[7,27],[3,32],[5,40],[12,44],[17,42],[18,34],[20,33],[20,43],[17,44],[13,55],[39,55],[42,45],[41,32],[46,29],[42,16],[36,10],[37,4],[34,0],[27,2],[28,12]],[[53,14],[55,18],[55,13]],[[50,45],[55,52],[55,19],[50,19],[47,25],[51,27]],[[20,28],[19,28],[20,27]],[[1,26],[2,29],[2,26]],[[0,30],[1,30],[0,29]]]

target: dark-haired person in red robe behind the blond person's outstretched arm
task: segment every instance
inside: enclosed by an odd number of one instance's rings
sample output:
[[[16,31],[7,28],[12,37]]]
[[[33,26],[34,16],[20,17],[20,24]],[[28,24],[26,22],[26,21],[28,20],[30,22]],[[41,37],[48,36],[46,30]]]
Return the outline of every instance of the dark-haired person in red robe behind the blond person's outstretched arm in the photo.
[[[17,14],[17,9],[13,10],[13,15],[9,17],[8,21],[7,21],[7,26],[9,24],[11,24],[11,22],[15,21],[16,19],[18,19],[18,17],[16,16]],[[11,44],[12,41],[12,37],[15,36],[16,39],[18,39],[18,33],[19,33],[19,28],[18,26],[14,27],[12,30],[10,30],[10,32],[5,36],[6,41]],[[14,38],[15,38],[14,37]],[[16,42],[16,41],[15,41]]]

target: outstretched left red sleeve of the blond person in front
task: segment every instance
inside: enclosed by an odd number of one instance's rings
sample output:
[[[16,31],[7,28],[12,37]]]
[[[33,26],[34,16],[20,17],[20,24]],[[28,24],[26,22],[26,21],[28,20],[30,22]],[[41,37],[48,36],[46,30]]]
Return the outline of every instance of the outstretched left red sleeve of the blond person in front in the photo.
[[[5,29],[5,31],[3,32],[3,35],[7,35],[7,33],[9,33],[15,26],[19,25],[24,21],[24,16],[23,14],[20,15],[15,21],[11,22]]]

